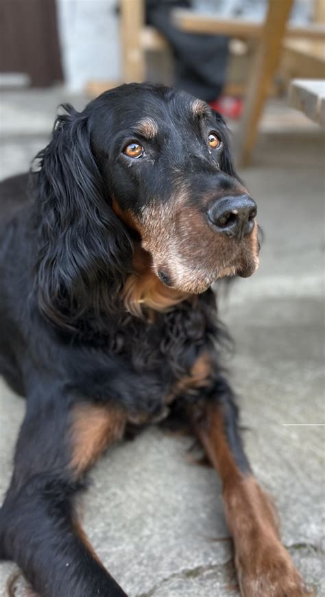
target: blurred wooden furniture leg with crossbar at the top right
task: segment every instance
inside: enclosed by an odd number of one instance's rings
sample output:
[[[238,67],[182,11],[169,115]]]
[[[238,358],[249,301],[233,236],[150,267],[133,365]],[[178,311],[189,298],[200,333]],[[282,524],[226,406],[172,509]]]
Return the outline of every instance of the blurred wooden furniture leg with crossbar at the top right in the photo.
[[[318,21],[323,19],[323,2],[324,0],[315,2],[319,12]],[[267,99],[269,86],[280,61],[283,45],[287,45],[287,51],[291,51],[291,54],[294,47],[293,40],[307,40],[309,45],[312,42],[322,43],[324,48],[324,24],[287,27],[292,5],[293,0],[269,0],[264,23],[241,19],[217,19],[217,17],[212,18],[210,15],[201,14],[195,16],[193,11],[188,10],[178,10],[174,14],[175,22],[183,31],[201,34],[228,34],[239,38],[254,38],[257,41],[256,54],[247,82],[245,106],[235,143],[237,163],[241,166],[249,165],[252,159],[258,122]],[[313,65],[315,65],[315,60]],[[324,69],[319,73],[320,77],[324,77]]]

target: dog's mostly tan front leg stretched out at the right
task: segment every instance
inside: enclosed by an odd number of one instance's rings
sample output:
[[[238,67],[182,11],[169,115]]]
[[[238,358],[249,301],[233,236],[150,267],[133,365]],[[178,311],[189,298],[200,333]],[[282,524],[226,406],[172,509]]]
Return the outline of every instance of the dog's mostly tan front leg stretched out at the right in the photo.
[[[195,417],[192,410],[193,425],[221,477],[241,595],[305,596],[309,592],[280,543],[274,506],[256,482],[243,451],[231,390],[223,379],[215,390],[200,416]]]

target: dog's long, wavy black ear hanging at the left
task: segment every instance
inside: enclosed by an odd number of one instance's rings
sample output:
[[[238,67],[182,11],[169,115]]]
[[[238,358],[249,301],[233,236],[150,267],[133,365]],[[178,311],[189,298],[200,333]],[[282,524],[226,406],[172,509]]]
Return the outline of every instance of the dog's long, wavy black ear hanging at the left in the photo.
[[[51,142],[38,154],[38,262],[40,309],[57,325],[82,312],[109,309],[130,270],[132,241],[110,207],[91,151],[91,121],[64,104]]]

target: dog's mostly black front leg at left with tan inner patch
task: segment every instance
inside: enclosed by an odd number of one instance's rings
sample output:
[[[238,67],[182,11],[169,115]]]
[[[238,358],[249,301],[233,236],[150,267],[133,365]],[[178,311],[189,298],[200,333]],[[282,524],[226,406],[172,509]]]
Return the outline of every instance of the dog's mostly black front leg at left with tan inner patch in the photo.
[[[122,597],[77,519],[86,470],[121,437],[125,415],[107,404],[31,397],[0,511],[0,557],[19,564],[42,597]]]

